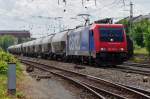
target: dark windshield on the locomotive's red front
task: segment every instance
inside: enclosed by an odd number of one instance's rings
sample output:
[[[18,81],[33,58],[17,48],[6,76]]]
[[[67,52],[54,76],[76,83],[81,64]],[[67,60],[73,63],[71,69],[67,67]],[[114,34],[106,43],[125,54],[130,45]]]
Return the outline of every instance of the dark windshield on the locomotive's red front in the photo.
[[[122,28],[101,28],[100,40],[102,42],[123,42]]]

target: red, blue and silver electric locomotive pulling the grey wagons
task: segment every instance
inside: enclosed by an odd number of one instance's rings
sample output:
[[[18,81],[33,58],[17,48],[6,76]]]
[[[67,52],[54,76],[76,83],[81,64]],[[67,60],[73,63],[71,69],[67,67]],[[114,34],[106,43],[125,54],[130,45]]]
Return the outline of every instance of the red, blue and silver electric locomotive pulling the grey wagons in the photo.
[[[96,64],[121,64],[127,59],[127,40],[121,24],[92,24],[68,33],[67,56]]]

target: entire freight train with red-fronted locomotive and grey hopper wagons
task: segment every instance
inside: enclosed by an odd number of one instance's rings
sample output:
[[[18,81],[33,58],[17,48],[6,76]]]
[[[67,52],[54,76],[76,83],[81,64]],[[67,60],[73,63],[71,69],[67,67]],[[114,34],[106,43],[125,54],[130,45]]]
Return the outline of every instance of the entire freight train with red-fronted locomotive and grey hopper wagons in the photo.
[[[66,62],[117,65],[133,55],[133,43],[122,24],[93,23],[13,45],[8,51]]]

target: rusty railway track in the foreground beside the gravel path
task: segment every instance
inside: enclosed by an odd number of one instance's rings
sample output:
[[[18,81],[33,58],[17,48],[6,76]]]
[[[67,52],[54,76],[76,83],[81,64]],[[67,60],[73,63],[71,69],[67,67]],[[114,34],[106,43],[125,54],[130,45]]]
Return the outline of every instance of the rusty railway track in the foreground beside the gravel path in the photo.
[[[21,61],[29,66],[50,72],[54,75],[72,81],[86,88],[99,99],[150,99],[148,94],[121,84],[106,81],[101,78],[57,68],[51,65],[43,64],[40,61],[33,61],[31,59],[21,59]]]

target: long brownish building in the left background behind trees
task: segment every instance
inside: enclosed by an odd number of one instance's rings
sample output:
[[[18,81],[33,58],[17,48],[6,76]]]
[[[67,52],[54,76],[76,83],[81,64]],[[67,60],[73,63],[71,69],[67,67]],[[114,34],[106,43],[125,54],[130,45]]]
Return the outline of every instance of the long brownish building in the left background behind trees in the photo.
[[[12,35],[17,38],[16,43],[23,43],[31,40],[31,34],[26,30],[0,30],[0,36]]]

